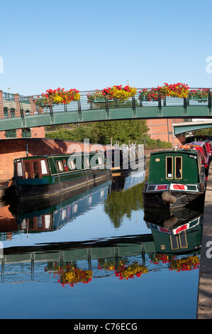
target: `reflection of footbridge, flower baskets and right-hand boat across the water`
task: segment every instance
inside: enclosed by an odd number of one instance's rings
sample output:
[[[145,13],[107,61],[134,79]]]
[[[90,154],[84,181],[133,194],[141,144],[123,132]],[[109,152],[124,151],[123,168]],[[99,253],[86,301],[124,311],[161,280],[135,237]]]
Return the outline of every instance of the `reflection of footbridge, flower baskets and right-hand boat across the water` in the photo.
[[[7,248],[1,283],[57,281],[73,287],[108,276],[118,280],[140,278],[162,268],[177,272],[198,269],[201,223],[199,215],[179,226],[182,231],[147,222],[151,234]]]

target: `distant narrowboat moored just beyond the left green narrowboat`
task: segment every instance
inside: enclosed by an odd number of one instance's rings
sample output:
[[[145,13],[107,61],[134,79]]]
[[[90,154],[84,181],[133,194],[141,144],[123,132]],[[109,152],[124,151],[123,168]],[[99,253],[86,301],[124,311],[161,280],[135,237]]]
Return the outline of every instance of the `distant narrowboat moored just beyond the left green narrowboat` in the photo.
[[[106,150],[106,158],[113,171],[136,170],[140,165],[146,165],[143,145],[114,147]],[[146,169],[146,167],[144,167]]]

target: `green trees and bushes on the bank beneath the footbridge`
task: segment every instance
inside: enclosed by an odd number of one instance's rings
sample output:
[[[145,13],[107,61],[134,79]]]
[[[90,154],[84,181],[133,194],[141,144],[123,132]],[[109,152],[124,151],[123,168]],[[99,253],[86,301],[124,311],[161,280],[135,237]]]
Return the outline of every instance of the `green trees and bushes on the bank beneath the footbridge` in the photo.
[[[52,128],[48,126],[47,130]],[[144,119],[130,119],[106,122],[91,122],[60,126],[56,131],[46,131],[45,137],[69,141],[84,141],[89,139],[93,144],[144,144],[145,149],[168,149],[171,143],[150,139],[147,135],[148,127]]]

